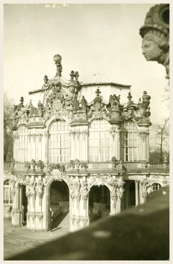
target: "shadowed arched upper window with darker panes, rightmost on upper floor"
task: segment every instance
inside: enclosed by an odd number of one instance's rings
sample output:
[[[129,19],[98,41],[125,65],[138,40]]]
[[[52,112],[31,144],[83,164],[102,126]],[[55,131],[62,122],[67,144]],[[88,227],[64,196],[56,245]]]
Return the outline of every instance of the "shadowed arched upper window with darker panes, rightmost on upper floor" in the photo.
[[[121,124],[121,159],[137,161],[137,128],[134,122],[125,120]]]

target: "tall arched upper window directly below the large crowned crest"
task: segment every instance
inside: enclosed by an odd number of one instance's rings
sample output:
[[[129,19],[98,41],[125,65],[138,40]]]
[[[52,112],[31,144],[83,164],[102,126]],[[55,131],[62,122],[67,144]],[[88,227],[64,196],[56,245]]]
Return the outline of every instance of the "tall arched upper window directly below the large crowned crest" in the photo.
[[[50,127],[49,162],[69,162],[69,127],[66,121],[55,121]]]

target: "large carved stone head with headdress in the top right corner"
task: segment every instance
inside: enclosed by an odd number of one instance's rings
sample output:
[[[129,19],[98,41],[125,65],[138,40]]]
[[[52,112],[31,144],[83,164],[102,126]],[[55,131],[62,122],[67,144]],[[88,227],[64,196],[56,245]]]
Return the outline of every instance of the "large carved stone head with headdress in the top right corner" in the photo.
[[[140,28],[142,54],[147,61],[157,61],[166,68],[169,78],[169,4],[157,4],[147,13]]]

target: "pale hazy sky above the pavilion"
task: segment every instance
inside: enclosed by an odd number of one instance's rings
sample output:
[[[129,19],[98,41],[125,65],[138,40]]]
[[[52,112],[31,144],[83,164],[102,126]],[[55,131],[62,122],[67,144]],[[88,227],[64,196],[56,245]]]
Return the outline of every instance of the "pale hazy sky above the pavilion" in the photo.
[[[5,4],[4,91],[14,103],[41,89],[46,74],[56,74],[55,54],[62,57],[62,76],[101,73],[132,85],[134,100],[151,96],[152,123],[169,112],[161,96],[165,67],[142,55],[139,29],[155,4]],[[127,99],[128,100],[128,99]],[[25,104],[25,101],[24,101]]]

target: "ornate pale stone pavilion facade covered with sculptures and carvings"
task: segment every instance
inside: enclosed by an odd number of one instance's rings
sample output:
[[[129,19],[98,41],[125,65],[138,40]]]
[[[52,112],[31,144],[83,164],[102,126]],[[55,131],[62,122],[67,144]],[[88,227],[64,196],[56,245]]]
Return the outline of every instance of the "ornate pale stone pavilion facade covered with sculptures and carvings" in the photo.
[[[110,204],[102,202],[102,207],[109,208],[112,216],[144,203],[154,184],[155,188],[169,184],[169,164],[165,160],[157,171],[149,163],[151,97],[146,91],[142,100],[134,103],[130,85],[86,84],[78,80],[79,74],[74,71],[67,80],[61,76],[61,56],[55,55],[54,61],[56,76],[50,80],[45,76],[42,88],[29,92],[32,99],[24,106],[21,97],[21,103],[14,107],[12,224],[22,225],[25,186],[28,229],[49,229],[51,203],[58,203],[63,212],[70,212],[69,230],[76,231],[90,224],[89,196],[93,186],[108,188]],[[112,85],[118,95],[110,94],[106,101],[102,85]],[[81,93],[84,86],[95,89],[90,102]],[[121,96],[126,97],[126,103],[121,104]],[[67,184],[69,202],[51,201],[54,181]],[[104,200],[107,194],[103,189]],[[94,212],[99,206],[94,202]],[[58,210],[60,206],[56,215]]]

